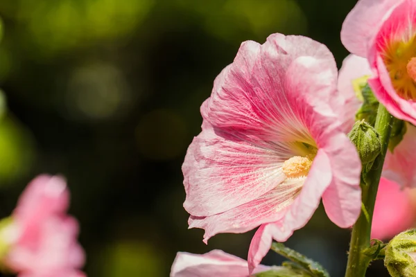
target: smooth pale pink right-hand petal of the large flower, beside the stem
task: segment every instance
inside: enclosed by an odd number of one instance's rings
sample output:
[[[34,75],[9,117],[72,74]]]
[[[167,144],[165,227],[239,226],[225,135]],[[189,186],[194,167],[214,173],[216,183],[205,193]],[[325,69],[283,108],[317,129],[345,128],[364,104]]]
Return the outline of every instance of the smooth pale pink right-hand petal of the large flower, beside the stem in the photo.
[[[331,161],[332,181],[322,202],[329,219],[340,226],[352,226],[361,212],[361,161],[355,146],[345,134],[331,137],[325,147]]]

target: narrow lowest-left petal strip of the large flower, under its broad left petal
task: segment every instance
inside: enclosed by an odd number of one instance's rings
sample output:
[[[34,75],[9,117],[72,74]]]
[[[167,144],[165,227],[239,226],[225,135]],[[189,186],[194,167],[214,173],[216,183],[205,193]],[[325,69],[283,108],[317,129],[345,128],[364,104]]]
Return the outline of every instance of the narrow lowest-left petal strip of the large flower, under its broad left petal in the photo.
[[[209,217],[189,217],[189,228],[205,229],[204,242],[217,233],[245,233],[260,224],[275,222],[299,195],[306,178],[286,179],[261,197]]]

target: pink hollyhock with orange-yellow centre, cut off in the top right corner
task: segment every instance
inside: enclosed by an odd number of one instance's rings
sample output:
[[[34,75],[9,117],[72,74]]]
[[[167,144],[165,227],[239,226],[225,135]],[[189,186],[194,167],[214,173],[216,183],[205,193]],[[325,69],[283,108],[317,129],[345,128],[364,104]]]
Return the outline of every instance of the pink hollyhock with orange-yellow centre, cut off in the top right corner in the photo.
[[[376,98],[400,119],[416,124],[416,1],[360,0],[341,31],[345,47],[366,57]]]

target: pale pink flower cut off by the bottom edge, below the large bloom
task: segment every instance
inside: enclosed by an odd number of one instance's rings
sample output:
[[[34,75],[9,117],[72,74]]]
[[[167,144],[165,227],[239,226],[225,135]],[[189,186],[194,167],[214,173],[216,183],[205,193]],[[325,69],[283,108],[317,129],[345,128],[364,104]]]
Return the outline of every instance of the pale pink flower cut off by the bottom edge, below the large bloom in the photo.
[[[178,252],[173,261],[171,277],[248,277],[247,267],[247,261],[221,250],[202,255]],[[279,269],[259,265],[253,274],[272,268]]]

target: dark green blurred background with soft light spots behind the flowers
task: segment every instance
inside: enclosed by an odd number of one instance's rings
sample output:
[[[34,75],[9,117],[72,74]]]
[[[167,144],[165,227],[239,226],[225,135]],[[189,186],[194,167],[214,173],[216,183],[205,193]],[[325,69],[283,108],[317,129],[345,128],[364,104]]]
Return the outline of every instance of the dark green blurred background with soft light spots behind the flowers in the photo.
[[[246,257],[252,234],[187,229],[181,164],[199,107],[239,45],[270,33],[326,44],[338,66],[355,0],[1,0],[0,215],[62,174],[89,276],[168,276],[177,251]],[[343,276],[349,230],[322,208],[288,246]],[[270,253],[266,264],[281,258]],[[388,276],[374,262],[367,276]]]

